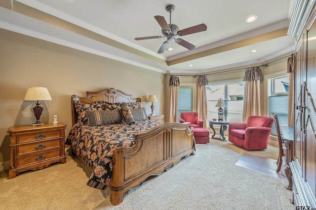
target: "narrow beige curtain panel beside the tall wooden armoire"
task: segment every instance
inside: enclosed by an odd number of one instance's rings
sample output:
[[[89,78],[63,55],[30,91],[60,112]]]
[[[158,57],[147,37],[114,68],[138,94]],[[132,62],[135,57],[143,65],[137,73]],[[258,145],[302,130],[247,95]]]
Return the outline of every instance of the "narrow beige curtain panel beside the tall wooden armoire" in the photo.
[[[287,59],[287,73],[289,73],[288,87],[288,126],[294,126],[294,72],[295,72],[295,56]]]

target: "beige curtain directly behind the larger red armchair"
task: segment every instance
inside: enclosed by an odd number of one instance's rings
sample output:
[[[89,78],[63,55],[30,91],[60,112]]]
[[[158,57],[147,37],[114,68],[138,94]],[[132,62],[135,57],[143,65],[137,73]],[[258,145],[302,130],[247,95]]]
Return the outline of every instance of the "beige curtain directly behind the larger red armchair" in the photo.
[[[250,115],[261,116],[260,106],[260,83],[262,81],[262,71],[260,66],[246,68],[243,99],[242,120],[246,122]]]

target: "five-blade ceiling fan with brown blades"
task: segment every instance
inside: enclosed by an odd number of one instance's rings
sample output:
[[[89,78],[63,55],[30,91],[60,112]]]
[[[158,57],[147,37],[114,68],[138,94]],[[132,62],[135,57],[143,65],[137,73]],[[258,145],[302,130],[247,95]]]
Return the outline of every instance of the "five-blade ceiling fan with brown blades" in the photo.
[[[143,39],[156,39],[156,38],[163,38],[167,37],[167,40],[162,43],[160,49],[158,50],[158,53],[163,53],[167,49],[167,45],[169,41],[175,40],[175,42],[188,50],[193,50],[196,46],[191,44],[190,42],[187,42],[184,39],[181,38],[175,38],[175,36],[184,36],[192,33],[197,33],[200,31],[206,30],[205,24],[199,24],[197,26],[193,26],[187,29],[179,30],[179,27],[177,25],[171,24],[171,12],[175,10],[175,6],[173,4],[166,5],[166,11],[170,13],[170,24],[167,24],[166,20],[163,16],[156,15],[154,18],[158,22],[158,24],[161,27],[161,32],[163,36],[146,36],[146,37],[137,37],[135,40],[143,40]]]

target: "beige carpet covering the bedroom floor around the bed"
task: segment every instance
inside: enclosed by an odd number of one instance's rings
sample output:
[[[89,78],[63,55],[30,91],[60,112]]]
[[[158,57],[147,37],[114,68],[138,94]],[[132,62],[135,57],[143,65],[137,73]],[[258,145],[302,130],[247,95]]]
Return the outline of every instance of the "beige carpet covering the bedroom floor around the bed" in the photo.
[[[130,190],[113,207],[110,191],[86,186],[90,170],[76,156],[66,164],[26,172],[7,180],[0,172],[0,209],[26,210],[271,210],[295,209],[286,180],[235,163],[243,153],[277,158],[277,148],[246,151],[228,141],[197,144],[196,155]]]

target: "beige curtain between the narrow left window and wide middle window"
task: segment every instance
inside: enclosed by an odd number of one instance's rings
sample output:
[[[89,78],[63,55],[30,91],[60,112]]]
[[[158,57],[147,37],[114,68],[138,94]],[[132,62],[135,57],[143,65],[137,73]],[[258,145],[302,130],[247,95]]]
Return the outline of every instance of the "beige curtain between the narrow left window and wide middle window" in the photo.
[[[197,113],[199,119],[204,121],[203,127],[207,128],[207,96],[206,85],[208,85],[206,75],[198,75],[197,80]]]

